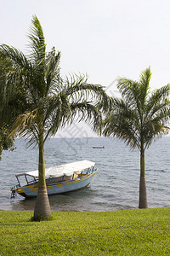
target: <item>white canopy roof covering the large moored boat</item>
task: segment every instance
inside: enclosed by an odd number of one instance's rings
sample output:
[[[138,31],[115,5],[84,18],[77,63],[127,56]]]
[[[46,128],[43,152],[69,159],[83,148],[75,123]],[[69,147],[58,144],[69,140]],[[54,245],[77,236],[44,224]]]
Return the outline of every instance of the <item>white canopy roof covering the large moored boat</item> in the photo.
[[[70,164],[65,164],[61,166],[52,166],[47,169],[45,169],[45,177],[61,177],[63,175],[65,176],[71,176],[73,173],[81,173],[83,170],[91,168],[95,165],[94,162],[88,161],[88,160],[82,160],[82,161],[77,161],[73,162]],[[38,170],[37,171],[32,171],[32,172],[21,172],[19,174],[16,174],[16,177],[20,176],[31,176],[31,177],[38,177]]]

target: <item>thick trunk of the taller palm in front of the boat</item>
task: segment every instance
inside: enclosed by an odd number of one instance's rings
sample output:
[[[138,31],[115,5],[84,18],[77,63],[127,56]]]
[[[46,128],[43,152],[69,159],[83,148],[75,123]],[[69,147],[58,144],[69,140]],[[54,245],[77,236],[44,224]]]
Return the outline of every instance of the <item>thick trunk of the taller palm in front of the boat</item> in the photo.
[[[38,192],[37,201],[34,208],[34,217],[37,216],[42,216],[43,218],[51,217],[51,209],[49,206],[48,192],[45,182],[43,134],[41,134],[39,137]]]

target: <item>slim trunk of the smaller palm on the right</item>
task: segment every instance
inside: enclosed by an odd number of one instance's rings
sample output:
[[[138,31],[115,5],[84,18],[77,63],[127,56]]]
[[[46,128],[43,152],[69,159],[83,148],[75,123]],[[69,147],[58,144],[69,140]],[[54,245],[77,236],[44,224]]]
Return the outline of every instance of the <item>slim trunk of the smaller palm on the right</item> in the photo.
[[[147,193],[146,193],[146,179],[145,179],[145,165],[144,165],[144,148],[140,150],[140,182],[139,182],[139,208],[147,208]]]

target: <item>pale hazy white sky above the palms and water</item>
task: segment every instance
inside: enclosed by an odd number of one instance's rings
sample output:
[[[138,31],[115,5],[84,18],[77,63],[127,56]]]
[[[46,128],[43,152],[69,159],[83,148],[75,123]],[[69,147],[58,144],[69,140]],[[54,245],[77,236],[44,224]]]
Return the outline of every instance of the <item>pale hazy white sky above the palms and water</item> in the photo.
[[[152,90],[170,83],[167,0],[0,0],[0,6],[0,44],[26,53],[37,15],[48,49],[61,51],[63,76],[88,73],[88,82],[108,86],[117,77],[139,79],[150,66]]]

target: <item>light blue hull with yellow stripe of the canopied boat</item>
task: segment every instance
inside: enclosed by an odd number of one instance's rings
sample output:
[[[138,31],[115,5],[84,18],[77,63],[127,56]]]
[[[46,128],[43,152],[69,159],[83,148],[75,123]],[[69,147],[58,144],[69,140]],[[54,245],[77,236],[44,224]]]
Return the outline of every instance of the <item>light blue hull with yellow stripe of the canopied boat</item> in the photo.
[[[70,181],[65,181],[61,183],[50,183],[49,185],[47,185],[48,195],[64,194],[66,192],[85,188],[92,181],[96,172],[97,169],[88,175],[78,177]],[[29,186],[19,187],[17,189],[17,193],[24,197],[36,197],[37,189],[38,188],[35,187],[34,184],[32,184]]]

